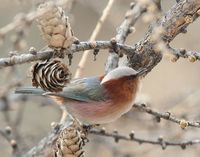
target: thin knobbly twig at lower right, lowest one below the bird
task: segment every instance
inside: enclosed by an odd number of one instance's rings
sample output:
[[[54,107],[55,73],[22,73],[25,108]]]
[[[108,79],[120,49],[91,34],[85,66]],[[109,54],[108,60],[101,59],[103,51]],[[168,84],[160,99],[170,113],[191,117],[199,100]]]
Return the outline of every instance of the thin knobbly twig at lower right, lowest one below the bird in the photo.
[[[118,142],[119,140],[125,140],[125,141],[138,142],[139,144],[146,143],[146,144],[160,145],[162,149],[166,149],[167,146],[180,146],[182,149],[186,149],[186,146],[200,144],[199,139],[173,142],[173,141],[164,140],[163,137],[159,137],[156,140],[149,140],[149,139],[135,137],[134,132],[131,132],[129,134],[129,137],[118,134],[118,132],[116,131],[114,131],[113,133],[109,133],[109,132],[106,132],[104,129],[103,130],[92,129],[90,130],[90,133],[95,134],[95,135],[100,135],[100,136],[112,137],[114,138],[115,142]]]

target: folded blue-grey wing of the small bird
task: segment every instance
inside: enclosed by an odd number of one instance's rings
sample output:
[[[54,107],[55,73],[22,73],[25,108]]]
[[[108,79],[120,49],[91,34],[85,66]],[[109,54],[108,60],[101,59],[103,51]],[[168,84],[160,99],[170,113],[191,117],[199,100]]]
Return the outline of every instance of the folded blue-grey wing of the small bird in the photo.
[[[100,85],[98,77],[82,78],[72,81],[62,92],[47,92],[44,95],[60,96],[83,102],[106,101],[106,90]]]

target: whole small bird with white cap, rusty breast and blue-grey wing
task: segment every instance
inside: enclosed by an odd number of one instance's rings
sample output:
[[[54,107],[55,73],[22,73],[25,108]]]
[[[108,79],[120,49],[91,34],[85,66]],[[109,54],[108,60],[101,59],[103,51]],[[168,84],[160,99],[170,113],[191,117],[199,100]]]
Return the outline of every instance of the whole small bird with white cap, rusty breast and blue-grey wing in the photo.
[[[140,76],[145,72],[118,67],[105,76],[73,80],[58,93],[33,87],[22,87],[15,92],[49,96],[64,105],[83,124],[104,124],[131,109],[140,86]]]

